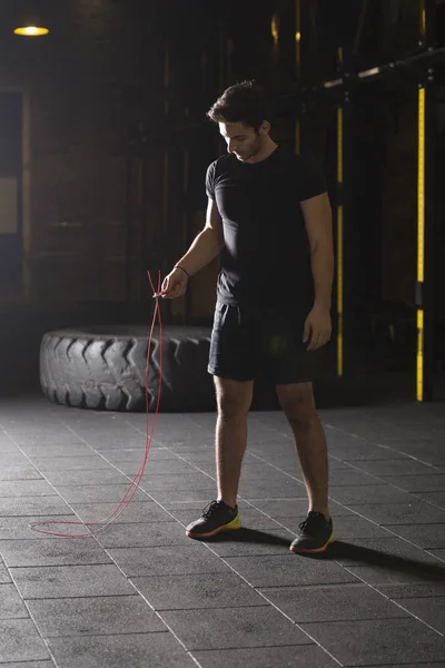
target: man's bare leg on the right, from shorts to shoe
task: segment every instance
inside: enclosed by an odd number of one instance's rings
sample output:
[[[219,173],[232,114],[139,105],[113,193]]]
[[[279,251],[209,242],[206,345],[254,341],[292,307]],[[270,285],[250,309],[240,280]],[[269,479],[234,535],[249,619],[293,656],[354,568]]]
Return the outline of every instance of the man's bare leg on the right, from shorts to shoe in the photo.
[[[317,415],[313,384],[277,385],[280,405],[295,435],[309,511],[329,519],[326,436]]]

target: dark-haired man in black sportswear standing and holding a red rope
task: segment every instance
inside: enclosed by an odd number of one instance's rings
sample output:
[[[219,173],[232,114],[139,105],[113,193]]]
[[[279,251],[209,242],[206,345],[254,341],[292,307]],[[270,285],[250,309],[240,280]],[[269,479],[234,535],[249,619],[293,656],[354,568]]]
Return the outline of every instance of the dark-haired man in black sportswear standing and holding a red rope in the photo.
[[[184,295],[188,279],[220,254],[208,371],[218,416],[218,499],[187,527],[206,539],[240,528],[238,481],[247,416],[259,374],[276,385],[296,439],[308,515],[290,546],[322,552],[334,540],[328,509],[327,448],[313,381],[330,338],[334,273],[332,214],[326,187],[306,163],[270,137],[263,89],[228,88],[208,112],[228,155],[207,171],[207,220],[165,278],[165,297]]]

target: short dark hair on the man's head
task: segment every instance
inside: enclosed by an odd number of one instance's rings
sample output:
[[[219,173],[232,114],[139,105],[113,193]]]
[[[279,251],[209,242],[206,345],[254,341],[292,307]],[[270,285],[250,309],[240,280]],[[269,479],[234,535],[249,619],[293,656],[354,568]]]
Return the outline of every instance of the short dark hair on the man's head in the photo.
[[[207,116],[214,122],[243,122],[258,130],[265,120],[271,122],[271,107],[264,88],[247,80],[227,88]]]

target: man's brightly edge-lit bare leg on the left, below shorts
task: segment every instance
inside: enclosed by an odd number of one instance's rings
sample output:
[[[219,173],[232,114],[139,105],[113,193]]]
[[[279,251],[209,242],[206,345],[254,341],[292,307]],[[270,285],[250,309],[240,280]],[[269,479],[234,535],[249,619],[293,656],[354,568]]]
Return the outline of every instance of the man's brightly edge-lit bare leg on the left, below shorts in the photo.
[[[218,500],[235,508],[243,456],[247,445],[247,415],[254,394],[253,381],[215,377],[218,418],[216,466]]]

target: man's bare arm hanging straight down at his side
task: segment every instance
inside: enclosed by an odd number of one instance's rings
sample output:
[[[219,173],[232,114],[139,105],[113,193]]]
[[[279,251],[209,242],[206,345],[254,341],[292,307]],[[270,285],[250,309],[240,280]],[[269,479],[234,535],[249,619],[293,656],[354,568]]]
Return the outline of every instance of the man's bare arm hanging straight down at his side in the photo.
[[[304,341],[315,351],[332,335],[332,293],[334,279],[333,216],[327,193],[300,203],[310,247],[315,301],[306,318]]]

